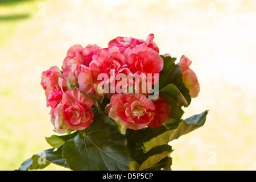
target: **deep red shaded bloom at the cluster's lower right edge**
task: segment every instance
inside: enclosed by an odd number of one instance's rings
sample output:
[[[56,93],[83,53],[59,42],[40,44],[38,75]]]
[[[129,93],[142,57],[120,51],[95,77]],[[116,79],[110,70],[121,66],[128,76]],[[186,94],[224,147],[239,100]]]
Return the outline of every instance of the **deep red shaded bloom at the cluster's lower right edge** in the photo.
[[[155,105],[155,117],[149,125],[147,125],[151,128],[162,126],[171,119],[168,117],[168,115],[171,114],[171,106],[167,104],[163,97],[159,97],[158,100],[153,103]]]

